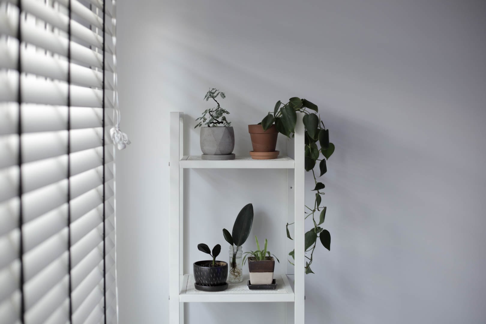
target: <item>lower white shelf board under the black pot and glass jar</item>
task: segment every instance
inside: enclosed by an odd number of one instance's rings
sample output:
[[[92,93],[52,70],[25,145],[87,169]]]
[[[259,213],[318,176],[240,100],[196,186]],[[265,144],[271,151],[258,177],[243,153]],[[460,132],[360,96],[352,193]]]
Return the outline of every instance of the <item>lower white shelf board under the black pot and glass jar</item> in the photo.
[[[294,290],[287,278],[287,275],[274,275],[277,282],[275,290],[249,290],[247,282],[248,275],[243,275],[243,282],[233,284],[228,282],[228,289],[218,292],[196,290],[194,288],[194,277],[192,274],[180,276],[179,302],[293,302],[295,300]]]

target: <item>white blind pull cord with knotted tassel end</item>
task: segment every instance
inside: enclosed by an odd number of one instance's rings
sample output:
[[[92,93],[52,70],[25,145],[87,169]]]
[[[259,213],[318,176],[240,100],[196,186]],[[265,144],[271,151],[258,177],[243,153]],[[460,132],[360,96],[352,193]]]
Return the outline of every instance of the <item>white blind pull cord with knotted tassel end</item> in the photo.
[[[118,102],[118,71],[117,71],[117,5],[116,0],[112,0],[112,15],[111,23],[113,25],[113,102],[115,107],[115,122],[114,126],[110,129],[110,137],[114,143],[117,144],[119,150],[123,150],[131,142],[128,136],[120,130],[121,112],[120,104]]]

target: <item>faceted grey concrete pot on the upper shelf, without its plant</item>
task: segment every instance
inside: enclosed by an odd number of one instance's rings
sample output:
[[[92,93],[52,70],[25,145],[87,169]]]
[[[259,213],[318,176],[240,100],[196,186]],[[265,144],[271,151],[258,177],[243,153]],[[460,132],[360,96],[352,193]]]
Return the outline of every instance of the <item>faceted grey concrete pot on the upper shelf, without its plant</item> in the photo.
[[[235,148],[233,127],[201,127],[201,151],[207,155],[228,155]]]

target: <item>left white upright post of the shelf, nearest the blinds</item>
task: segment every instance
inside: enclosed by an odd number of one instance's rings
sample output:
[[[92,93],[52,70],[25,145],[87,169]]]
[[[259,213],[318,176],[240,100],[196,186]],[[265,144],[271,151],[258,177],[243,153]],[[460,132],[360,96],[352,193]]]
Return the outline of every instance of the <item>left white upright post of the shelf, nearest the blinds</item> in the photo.
[[[169,216],[169,324],[184,324],[184,303],[179,303],[179,278],[184,274],[183,260],[183,197],[184,169],[179,168],[183,156],[184,114],[171,112],[170,216]]]

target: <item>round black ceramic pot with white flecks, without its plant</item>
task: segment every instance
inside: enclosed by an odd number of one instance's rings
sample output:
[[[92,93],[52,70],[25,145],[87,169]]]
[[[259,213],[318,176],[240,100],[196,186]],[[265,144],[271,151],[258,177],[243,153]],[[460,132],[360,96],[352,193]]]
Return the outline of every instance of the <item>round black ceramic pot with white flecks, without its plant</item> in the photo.
[[[216,261],[216,267],[210,266],[212,260],[194,262],[194,281],[200,286],[222,286],[228,277],[228,263]]]

